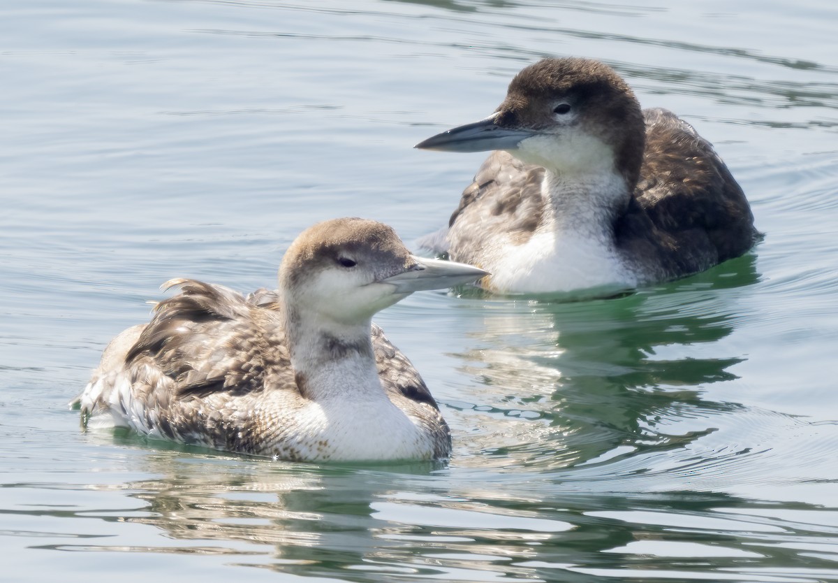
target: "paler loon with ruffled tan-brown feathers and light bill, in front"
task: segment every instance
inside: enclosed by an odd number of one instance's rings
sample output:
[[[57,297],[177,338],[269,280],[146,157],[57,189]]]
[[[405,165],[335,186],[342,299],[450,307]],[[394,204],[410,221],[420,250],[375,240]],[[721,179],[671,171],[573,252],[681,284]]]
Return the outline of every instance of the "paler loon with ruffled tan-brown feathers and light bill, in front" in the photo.
[[[163,284],[181,291],[106,346],[71,405],[85,428],[274,459],[444,459],[436,401],[371,319],[414,291],[484,275],[411,255],[379,222],[324,221],[289,247],[278,290]]]

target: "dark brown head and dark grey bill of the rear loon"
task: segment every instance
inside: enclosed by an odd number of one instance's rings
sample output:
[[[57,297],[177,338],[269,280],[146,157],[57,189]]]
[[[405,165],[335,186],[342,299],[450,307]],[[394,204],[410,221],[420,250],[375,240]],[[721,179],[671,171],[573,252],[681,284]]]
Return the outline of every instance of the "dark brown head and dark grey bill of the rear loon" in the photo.
[[[562,58],[521,70],[489,117],[427,138],[416,148],[506,150],[571,178],[617,173],[632,189],[644,140],[643,112],[626,82],[597,60]]]

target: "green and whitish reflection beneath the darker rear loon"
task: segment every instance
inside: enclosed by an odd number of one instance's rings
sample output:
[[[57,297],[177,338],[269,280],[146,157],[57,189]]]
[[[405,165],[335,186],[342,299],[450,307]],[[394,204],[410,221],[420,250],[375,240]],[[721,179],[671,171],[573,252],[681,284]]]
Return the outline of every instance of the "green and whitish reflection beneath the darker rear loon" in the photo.
[[[739,299],[757,279],[748,255],[622,298],[490,302],[473,348],[456,355],[477,379],[453,403],[474,412],[472,446],[499,467],[512,458],[546,469],[683,448],[707,435],[711,424],[673,429],[672,420],[738,408],[702,398],[702,388],[735,379],[731,367],[743,357],[697,347],[731,334]],[[468,457],[486,463],[486,455]]]

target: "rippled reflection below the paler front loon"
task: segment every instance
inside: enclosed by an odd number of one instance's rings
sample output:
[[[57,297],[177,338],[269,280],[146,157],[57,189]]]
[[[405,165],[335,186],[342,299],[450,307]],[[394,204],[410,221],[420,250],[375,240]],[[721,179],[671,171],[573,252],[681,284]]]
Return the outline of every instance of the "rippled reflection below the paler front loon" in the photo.
[[[488,570],[529,580],[533,570],[510,561],[534,560],[533,544],[572,529],[532,508],[452,496],[427,465],[378,471],[174,452],[149,455],[147,465],[159,477],[127,485],[147,507],[122,519],[178,542],[143,550],[237,554],[242,565],[294,575],[462,579],[463,570]]]

